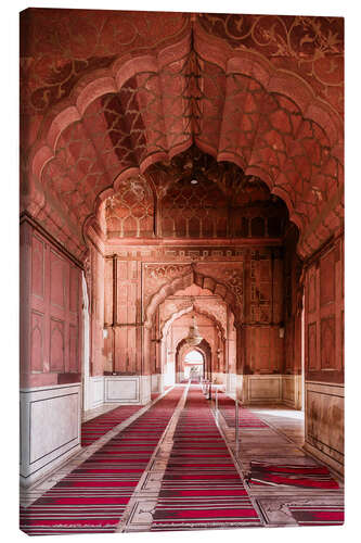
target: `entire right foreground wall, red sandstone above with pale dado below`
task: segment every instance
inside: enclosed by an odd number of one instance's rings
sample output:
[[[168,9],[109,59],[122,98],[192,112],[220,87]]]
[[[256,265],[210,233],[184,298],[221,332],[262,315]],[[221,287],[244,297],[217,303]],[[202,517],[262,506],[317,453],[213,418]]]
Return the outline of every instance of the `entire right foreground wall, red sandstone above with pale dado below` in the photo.
[[[344,470],[344,240],[331,242],[305,277],[305,447]]]

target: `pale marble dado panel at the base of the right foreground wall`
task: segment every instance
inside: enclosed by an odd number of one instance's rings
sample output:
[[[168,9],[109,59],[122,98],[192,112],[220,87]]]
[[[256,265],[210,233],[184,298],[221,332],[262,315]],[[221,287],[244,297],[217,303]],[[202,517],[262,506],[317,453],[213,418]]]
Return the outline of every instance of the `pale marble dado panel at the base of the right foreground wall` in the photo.
[[[344,471],[344,386],[306,381],[305,450]]]

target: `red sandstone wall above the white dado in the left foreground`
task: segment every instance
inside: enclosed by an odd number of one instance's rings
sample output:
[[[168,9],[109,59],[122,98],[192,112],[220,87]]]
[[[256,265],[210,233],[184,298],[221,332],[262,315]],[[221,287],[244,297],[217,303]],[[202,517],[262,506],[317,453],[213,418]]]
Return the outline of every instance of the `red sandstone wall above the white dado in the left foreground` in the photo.
[[[81,269],[28,222],[21,225],[21,386],[80,381]]]

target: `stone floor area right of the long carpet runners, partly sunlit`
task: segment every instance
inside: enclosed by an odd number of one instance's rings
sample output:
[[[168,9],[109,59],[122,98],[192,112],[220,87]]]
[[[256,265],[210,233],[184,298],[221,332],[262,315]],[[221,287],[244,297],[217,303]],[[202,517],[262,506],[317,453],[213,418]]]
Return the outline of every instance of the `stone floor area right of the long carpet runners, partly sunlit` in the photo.
[[[247,408],[267,422],[269,428],[240,428],[237,451],[234,428],[227,426],[220,413],[217,415],[219,428],[232,450],[243,478],[247,478],[252,460],[305,466],[321,464],[302,450],[302,412],[280,405],[247,406]],[[245,487],[260,510],[266,526],[297,526],[289,510],[292,505],[338,506],[344,504],[343,480],[338,473],[332,473],[339,484],[337,490],[301,489],[287,485],[253,487],[246,480]]]

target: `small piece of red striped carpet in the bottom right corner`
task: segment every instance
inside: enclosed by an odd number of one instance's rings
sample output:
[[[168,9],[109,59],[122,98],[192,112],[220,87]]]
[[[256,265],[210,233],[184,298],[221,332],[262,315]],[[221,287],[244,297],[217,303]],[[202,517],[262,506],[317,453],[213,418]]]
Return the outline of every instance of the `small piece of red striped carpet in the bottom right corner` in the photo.
[[[340,505],[289,505],[294,518],[300,526],[334,526],[345,522]]]

